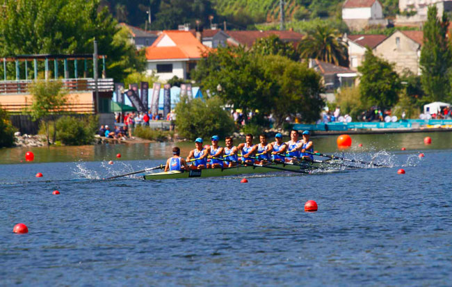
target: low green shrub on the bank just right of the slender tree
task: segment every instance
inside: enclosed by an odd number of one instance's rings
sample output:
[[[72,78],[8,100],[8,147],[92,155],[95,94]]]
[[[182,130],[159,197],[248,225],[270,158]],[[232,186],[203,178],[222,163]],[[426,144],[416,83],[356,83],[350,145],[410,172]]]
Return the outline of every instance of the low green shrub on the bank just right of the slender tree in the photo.
[[[56,138],[64,145],[89,145],[94,140],[97,129],[97,117],[84,119],[76,117],[60,117],[56,121]]]

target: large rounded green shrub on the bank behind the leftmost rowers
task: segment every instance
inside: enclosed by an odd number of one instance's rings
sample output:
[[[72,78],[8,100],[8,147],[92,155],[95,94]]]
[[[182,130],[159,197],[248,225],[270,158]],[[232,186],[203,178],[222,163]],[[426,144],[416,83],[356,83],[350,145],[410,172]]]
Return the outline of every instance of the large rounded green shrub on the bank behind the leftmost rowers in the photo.
[[[210,138],[213,135],[225,138],[234,131],[234,120],[223,110],[218,97],[188,100],[181,97],[176,106],[177,132],[182,138]]]

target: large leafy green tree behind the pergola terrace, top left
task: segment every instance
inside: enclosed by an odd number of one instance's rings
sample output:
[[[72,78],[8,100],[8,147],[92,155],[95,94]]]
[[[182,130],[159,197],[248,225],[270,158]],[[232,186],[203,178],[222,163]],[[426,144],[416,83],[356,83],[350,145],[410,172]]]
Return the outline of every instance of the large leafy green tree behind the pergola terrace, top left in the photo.
[[[5,0],[0,54],[92,54],[96,39],[99,54],[107,56],[108,76],[120,81],[144,65],[134,58],[127,35],[117,35],[117,24],[107,8],[99,8],[99,0]]]

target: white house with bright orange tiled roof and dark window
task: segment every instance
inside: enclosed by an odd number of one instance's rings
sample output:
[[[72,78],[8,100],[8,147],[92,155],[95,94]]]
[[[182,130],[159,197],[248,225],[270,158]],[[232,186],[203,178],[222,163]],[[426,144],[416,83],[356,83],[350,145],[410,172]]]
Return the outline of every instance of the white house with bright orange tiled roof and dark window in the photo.
[[[168,81],[173,76],[189,79],[208,47],[190,31],[163,31],[151,47],[146,48],[147,74]]]

